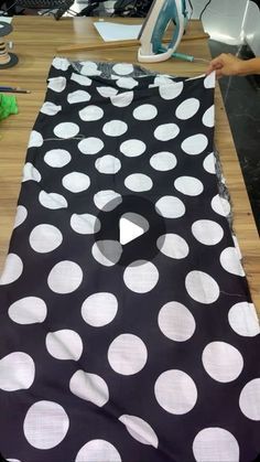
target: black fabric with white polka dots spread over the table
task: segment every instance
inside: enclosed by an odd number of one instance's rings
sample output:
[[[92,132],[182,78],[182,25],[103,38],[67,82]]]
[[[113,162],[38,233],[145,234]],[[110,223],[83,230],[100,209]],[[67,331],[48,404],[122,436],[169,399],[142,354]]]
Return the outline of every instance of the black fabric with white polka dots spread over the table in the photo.
[[[53,61],[0,279],[0,451],[251,462],[259,323],[218,193],[214,75]],[[143,234],[122,244],[121,217]]]

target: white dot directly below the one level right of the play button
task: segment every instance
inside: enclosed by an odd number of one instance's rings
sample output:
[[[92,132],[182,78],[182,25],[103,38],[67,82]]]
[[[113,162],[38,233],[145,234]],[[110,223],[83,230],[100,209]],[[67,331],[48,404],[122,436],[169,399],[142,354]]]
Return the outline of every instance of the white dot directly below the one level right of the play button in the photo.
[[[199,303],[214,303],[219,297],[217,282],[212,276],[203,271],[188,272],[185,287],[189,297]]]

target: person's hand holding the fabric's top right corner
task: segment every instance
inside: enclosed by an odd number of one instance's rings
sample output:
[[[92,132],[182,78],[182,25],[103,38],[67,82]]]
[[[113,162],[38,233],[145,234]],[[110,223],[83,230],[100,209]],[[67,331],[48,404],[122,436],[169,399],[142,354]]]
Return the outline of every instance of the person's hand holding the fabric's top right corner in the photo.
[[[221,53],[209,63],[206,74],[216,71],[217,78],[224,75],[242,75],[245,62],[232,54]]]

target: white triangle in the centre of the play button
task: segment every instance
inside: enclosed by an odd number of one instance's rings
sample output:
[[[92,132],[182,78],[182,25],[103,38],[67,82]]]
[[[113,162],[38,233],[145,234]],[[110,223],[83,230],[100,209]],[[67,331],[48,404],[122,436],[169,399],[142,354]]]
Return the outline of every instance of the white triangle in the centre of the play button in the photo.
[[[143,216],[126,213],[119,221],[119,241],[122,246],[142,236],[149,229],[149,223]]]

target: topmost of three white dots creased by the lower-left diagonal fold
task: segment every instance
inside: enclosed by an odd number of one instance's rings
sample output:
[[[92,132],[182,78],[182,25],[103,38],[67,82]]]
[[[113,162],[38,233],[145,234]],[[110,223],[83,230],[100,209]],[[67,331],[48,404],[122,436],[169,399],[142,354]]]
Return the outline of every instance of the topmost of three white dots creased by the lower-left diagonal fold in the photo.
[[[78,361],[83,353],[83,342],[77,332],[63,329],[46,335],[46,348],[56,359]]]

